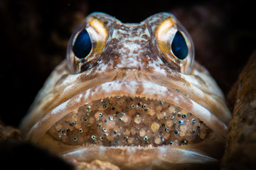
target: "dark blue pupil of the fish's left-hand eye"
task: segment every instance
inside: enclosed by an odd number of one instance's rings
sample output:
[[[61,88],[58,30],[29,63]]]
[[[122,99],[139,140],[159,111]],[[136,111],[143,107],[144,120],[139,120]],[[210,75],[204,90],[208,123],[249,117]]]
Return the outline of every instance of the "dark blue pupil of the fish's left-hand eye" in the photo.
[[[82,30],[73,42],[73,52],[76,57],[82,59],[90,54],[92,50],[92,41],[87,30]]]

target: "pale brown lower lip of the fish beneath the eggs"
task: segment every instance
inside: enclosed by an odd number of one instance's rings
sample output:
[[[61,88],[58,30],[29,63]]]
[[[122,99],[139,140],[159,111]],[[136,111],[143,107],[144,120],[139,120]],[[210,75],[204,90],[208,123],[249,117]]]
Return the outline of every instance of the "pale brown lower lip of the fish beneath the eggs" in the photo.
[[[91,153],[91,154],[88,154]],[[122,153],[122,157],[120,157]],[[105,147],[92,146],[81,147],[79,149],[70,150],[62,154],[64,159],[78,159],[81,162],[90,162],[94,159],[112,162],[119,166],[127,166],[130,164],[145,164],[159,166],[159,162],[169,162],[171,164],[210,164],[218,163],[219,160],[209,157],[203,152],[195,149],[184,149],[174,146],[159,147]],[[156,159],[159,162],[156,163]],[[121,163],[122,162],[122,163]],[[127,164],[125,164],[125,162]]]

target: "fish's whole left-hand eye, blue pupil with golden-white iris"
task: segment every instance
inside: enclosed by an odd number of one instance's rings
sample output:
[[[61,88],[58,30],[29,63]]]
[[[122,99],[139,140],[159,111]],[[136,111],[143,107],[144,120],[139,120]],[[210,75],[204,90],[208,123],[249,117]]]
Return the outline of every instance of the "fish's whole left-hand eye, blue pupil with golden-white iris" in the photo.
[[[104,18],[105,14],[87,16],[71,35],[67,48],[67,64],[71,74],[85,72],[102,59],[108,32],[101,16]]]

